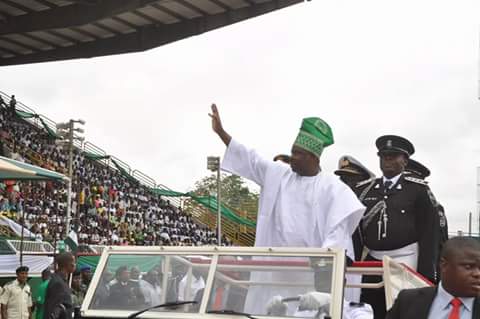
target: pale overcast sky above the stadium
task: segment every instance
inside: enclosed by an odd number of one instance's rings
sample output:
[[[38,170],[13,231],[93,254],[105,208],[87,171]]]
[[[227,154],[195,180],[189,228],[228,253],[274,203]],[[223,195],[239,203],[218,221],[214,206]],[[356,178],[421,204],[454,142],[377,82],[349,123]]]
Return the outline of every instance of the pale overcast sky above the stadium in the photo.
[[[174,190],[224,147],[216,102],[236,139],[272,158],[301,119],[334,131],[322,155],[379,174],[375,139],[407,137],[432,171],[450,231],[467,230],[480,166],[480,1],[313,0],[144,53],[0,69],[0,90]],[[478,229],[478,222],[474,224]]]

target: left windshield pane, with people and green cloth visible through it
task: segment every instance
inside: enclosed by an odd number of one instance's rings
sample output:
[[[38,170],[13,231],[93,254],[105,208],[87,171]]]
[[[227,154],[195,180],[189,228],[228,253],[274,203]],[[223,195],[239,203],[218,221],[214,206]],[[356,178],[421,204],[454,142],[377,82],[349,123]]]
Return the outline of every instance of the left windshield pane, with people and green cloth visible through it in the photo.
[[[110,254],[90,303],[92,310],[140,310],[167,302],[200,301],[212,256]],[[197,312],[198,305],[152,311]]]

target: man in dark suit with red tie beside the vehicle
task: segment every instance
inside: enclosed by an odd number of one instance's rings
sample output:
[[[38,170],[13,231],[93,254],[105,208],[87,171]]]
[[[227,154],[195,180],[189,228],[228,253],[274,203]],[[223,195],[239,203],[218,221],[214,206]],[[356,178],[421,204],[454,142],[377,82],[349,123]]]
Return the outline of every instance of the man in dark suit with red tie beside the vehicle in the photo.
[[[440,259],[438,287],[402,290],[386,319],[480,318],[480,241],[448,240]]]

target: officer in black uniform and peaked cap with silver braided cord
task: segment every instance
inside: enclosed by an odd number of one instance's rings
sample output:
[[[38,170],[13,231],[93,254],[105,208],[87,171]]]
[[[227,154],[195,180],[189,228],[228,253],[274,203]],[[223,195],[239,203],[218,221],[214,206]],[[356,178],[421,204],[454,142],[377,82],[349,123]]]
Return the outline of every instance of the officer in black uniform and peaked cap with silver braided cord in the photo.
[[[381,261],[387,255],[435,281],[438,214],[427,183],[405,174],[415,148],[407,139],[395,135],[381,136],[375,144],[383,176],[357,190],[367,207],[360,224],[369,250],[365,260]],[[363,281],[376,283],[381,277],[364,276]],[[383,289],[364,289],[362,301],[373,306],[375,319],[385,317]]]

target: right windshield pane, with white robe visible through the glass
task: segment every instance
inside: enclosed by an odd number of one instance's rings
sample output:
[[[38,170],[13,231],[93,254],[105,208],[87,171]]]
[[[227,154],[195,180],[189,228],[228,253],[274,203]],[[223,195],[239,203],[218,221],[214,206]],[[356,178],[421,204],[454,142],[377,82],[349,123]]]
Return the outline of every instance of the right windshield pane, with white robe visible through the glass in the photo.
[[[298,296],[332,293],[333,257],[219,256],[207,311],[302,316]],[[275,308],[281,297],[286,311]]]

